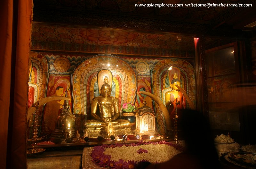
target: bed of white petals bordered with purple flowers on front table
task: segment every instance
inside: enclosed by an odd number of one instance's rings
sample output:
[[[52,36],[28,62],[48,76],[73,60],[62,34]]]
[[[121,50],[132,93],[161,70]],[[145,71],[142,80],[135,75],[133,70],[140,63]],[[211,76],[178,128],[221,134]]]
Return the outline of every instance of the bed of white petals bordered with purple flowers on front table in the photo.
[[[100,167],[135,168],[140,162],[162,163],[183,151],[183,147],[166,141],[135,144],[102,144],[93,147],[92,161]]]

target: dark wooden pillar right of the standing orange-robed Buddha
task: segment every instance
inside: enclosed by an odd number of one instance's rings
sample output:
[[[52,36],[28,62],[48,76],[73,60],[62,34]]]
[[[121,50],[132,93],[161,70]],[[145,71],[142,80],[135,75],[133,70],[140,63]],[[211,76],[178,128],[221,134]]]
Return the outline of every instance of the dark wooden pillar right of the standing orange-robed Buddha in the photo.
[[[196,51],[196,110],[208,115],[207,79],[205,68],[204,37],[194,38]]]

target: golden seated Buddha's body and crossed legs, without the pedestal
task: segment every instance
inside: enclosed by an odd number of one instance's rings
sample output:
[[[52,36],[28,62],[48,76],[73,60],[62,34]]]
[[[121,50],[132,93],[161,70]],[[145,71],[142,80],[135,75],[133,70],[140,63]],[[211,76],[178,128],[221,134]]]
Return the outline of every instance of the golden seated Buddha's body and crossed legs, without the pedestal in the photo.
[[[128,120],[117,119],[120,116],[119,101],[116,97],[110,96],[111,88],[107,83],[108,77],[105,77],[100,96],[92,99],[91,117],[93,119],[84,121],[85,129],[102,129],[108,126],[108,122],[112,122],[114,129],[130,126]],[[97,115],[97,109],[100,111],[100,116]]]

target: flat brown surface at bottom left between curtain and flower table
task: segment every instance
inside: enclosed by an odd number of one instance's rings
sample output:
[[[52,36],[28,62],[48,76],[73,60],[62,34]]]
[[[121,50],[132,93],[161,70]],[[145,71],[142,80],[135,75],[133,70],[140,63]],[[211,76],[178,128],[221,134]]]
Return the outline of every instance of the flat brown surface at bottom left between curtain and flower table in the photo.
[[[28,169],[80,169],[83,150],[49,151],[28,156]]]

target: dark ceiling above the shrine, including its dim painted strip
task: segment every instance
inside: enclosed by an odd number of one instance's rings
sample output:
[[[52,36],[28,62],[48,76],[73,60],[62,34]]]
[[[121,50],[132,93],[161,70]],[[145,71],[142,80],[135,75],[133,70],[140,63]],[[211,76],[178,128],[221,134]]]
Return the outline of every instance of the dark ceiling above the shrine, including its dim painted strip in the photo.
[[[255,35],[256,0],[34,0],[32,41],[194,50]],[[185,4],[252,7],[185,7]],[[135,7],[182,4],[183,7]],[[249,25],[251,24],[251,25]],[[247,27],[246,27],[247,25]],[[249,25],[249,26],[248,26]]]

